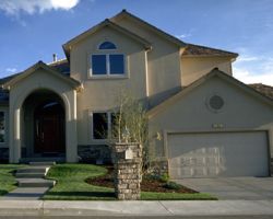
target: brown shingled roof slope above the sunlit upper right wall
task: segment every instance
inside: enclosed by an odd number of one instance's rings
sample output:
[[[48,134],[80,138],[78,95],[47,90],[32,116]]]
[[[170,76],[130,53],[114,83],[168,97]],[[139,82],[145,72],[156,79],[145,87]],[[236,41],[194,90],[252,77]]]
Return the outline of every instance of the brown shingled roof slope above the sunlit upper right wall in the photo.
[[[194,44],[187,44],[182,57],[193,57],[193,56],[226,56],[226,57],[234,57],[236,58],[238,54],[226,51],[217,48],[211,48],[206,46],[200,46]]]

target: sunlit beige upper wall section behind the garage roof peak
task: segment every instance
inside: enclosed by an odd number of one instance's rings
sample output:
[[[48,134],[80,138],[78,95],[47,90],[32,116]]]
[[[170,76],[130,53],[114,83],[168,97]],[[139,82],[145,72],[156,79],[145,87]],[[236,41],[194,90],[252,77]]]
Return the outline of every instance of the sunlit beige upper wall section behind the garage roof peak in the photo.
[[[228,57],[182,57],[182,87],[191,84],[214,68],[218,68],[221,71],[233,76],[232,61]]]

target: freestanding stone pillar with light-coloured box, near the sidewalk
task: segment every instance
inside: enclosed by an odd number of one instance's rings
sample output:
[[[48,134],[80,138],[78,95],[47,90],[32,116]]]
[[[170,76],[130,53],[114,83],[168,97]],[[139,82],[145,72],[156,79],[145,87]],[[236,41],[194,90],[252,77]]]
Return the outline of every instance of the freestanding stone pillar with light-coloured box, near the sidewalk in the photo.
[[[140,143],[115,143],[115,193],[119,200],[140,199],[142,147]]]

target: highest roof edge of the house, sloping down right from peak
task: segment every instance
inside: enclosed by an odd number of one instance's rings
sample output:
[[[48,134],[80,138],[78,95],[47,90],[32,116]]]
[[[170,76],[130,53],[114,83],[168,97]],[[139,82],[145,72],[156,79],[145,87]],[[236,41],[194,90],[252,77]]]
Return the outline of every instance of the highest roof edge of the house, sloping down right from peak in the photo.
[[[176,38],[175,36],[171,36],[170,34],[168,34],[168,33],[166,33],[166,32],[164,32],[164,31],[162,31],[159,28],[157,28],[156,26],[154,26],[154,25],[145,22],[144,20],[142,20],[142,19],[135,16],[135,15],[133,15],[132,13],[129,13],[124,9],[120,13],[118,13],[117,15],[112,16],[110,19],[110,21],[117,23],[122,18],[130,18],[130,19],[132,19],[132,20],[134,20],[134,21],[136,21],[136,22],[139,22],[139,23],[141,23],[143,25],[145,25],[147,28],[152,30],[156,34],[163,36],[164,38],[166,38],[167,41],[176,44],[179,47],[185,47],[186,46],[186,43],[183,43],[182,41]]]

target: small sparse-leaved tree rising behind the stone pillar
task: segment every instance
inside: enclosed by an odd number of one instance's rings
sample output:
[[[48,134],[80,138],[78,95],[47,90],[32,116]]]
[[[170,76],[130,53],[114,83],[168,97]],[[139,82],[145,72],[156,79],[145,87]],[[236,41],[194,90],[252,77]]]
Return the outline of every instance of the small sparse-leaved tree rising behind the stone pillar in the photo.
[[[112,137],[118,142],[138,142],[142,147],[142,170],[147,166],[147,116],[144,103],[127,95],[118,100],[118,113],[112,119]]]

